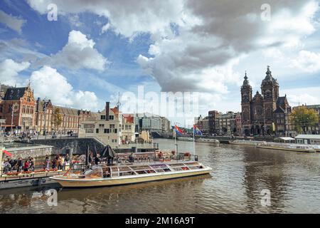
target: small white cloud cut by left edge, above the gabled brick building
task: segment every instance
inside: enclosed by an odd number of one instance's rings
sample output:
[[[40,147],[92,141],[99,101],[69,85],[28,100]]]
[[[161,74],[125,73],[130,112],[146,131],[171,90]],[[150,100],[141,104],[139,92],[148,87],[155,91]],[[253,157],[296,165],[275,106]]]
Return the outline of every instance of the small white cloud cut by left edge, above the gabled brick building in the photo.
[[[21,79],[18,78],[18,73],[26,70],[30,66],[28,62],[16,63],[10,58],[0,63],[0,83],[9,86],[25,86],[21,85]]]

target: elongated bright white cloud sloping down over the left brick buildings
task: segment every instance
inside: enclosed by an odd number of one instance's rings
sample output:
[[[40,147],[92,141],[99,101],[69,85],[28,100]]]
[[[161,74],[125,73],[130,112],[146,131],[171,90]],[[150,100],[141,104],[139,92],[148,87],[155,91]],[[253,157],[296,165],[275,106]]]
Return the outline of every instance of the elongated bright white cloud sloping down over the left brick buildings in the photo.
[[[55,105],[67,105],[87,110],[96,110],[98,107],[95,93],[74,90],[67,78],[50,66],[43,66],[38,71],[33,71],[30,80],[36,93],[35,96],[50,98]]]

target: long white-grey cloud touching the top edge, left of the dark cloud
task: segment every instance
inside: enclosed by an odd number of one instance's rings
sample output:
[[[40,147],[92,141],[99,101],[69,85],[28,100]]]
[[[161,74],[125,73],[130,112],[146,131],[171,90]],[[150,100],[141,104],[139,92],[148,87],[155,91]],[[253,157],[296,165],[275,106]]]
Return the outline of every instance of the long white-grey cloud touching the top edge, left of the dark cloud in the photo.
[[[137,31],[151,32],[164,31],[171,21],[180,21],[183,11],[183,1],[162,0],[144,1],[131,0],[119,1],[77,1],[77,0],[28,0],[28,4],[40,12],[46,14],[46,7],[53,3],[58,5],[58,10],[63,13],[77,14],[82,11],[90,11],[94,14],[105,16],[110,20],[117,33],[131,37]]]

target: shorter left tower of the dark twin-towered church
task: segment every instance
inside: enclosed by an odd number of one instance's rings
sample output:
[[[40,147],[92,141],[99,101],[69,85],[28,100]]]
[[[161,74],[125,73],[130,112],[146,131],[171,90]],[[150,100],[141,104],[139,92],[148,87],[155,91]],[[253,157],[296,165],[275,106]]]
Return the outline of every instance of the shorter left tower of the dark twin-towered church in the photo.
[[[242,126],[244,133],[250,131],[251,124],[251,100],[252,100],[252,87],[247,80],[247,72],[245,72],[245,80],[241,86],[241,113],[242,113]]]

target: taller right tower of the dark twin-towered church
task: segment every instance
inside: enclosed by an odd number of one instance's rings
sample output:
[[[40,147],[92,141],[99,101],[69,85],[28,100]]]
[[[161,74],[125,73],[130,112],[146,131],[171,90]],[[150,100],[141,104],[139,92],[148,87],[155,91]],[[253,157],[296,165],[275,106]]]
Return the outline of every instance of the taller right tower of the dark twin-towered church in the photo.
[[[279,98],[279,84],[272,77],[270,66],[267,66],[265,79],[261,83],[261,92],[264,98],[265,123],[272,124],[273,112],[277,109],[277,100]]]

